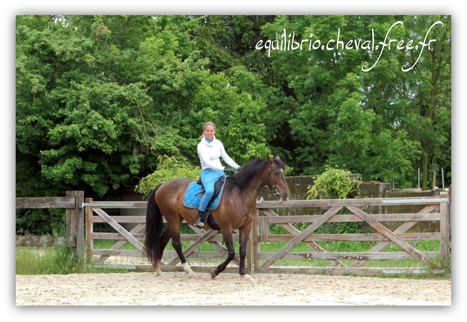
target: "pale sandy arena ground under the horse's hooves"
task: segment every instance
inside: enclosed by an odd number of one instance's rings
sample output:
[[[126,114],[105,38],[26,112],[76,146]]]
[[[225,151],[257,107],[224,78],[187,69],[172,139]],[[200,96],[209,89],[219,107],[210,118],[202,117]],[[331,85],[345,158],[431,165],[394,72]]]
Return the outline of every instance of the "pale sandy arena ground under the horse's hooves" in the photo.
[[[16,275],[16,305],[451,305],[450,280],[183,272]]]

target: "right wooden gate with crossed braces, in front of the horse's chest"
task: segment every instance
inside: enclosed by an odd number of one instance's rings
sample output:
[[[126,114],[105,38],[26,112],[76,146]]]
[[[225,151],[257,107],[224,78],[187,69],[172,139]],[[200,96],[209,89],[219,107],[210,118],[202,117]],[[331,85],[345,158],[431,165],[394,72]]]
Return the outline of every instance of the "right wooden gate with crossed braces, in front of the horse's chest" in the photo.
[[[334,199],[334,200],[291,200],[287,202],[264,201],[257,205],[258,216],[253,227],[254,230],[254,271],[263,272],[309,272],[328,274],[426,274],[428,272],[442,272],[431,259],[441,258],[448,261],[449,253],[449,198],[443,192],[440,197],[408,197],[408,198],[369,198],[369,199]],[[382,209],[388,207],[394,211],[394,206],[420,205],[421,210],[416,213],[383,213]],[[323,215],[279,216],[272,209],[291,207],[314,207],[327,209]],[[379,213],[370,214],[362,207],[374,208]],[[342,209],[350,214],[340,215]],[[407,233],[422,221],[439,222],[438,232]],[[346,233],[325,234],[314,232],[327,222],[365,222],[372,227],[375,233]],[[403,222],[394,231],[381,222]],[[309,223],[303,231],[295,228],[292,223]],[[278,224],[289,234],[270,234],[270,225]],[[413,240],[439,240],[440,250],[419,251],[408,241]],[[317,244],[319,241],[363,242],[373,241],[376,245],[364,252],[326,251]],[[264,243],[286,242],[275,252],[260,251]],[[292,251],[298,244],[303,243],[309,251]],[[403,251],[382,251],[394,243]],[[308,265],[302,268],[285,268],[281,265],[272,267],[282,259],[307,260]],[[415,259],[419,266],[400,267],[363,267],[370,260]],[[325,260],[326,266],[313,267],[312,260]]]

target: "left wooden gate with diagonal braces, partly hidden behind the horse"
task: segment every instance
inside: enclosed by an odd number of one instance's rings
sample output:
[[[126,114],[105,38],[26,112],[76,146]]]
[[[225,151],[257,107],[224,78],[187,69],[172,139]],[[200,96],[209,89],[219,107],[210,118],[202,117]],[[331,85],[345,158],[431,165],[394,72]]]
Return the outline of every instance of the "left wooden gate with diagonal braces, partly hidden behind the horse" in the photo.
[[[102,267],[102,268],[124,268],[124,269],[138,269],[138,270],[152,270],[152,265],[147,262],[143,251],[144,245],[141,243],[144,240],[144,230],[146,227],[145,215],[108,215],[105,210],[108,209],[141,209],[146,208],[146,201],[136,202],[108,202],[108,201],[95,201],[91,198],[87,198],[83,206],[86,207],[86,260],[90,265]],[[165,219],[163,219],[165,223]],[[94,232],[94,225],[97,223],[107,223],[114,232]],[[129,231],[125,229],[121,224],[133,223],[136,226]],[[184,243],[183,254],[191,264],[191,268],[194,271],[199,272],[210,272],[212,268],[220,264],[227,258],[227,249],[221,244],[222,235],[218,234],[217,231],[197,228],[189,225],[183,221],[182,225],[187,225],[194,232],[193,234],[182,234],[181,241],[191,242],[188,247],[187,243]],[[106,249],[94,248],[94,240],[114,240],[116,241],[112,246]],[[217,251],[199,251],[197,250],[204,242],[212,245]],[[234,235],[234,242],[238,242],[238,236]],[[133,249],[122,249],[122,247],[129,243]],[[170,243],[170,242],[169,242]],[[238,248],[238,247],[237,247]],[[247,245],[247,272],[251,273],[252,262],[251,262],[251,240]],[[131,261],[133,263],[115,263],[115,261],[109,260],[109,258],[115,259],[115,257],[125,258],[133,257],[136,260]],[[164,250],[162,256],[162,271],[183,271],[180,264],[180,259],[175,250]],[[194,259],[217,259],[212,261],[215,264],[211,265],[193,265]],[[165,260],[165,262],[164,262]],[[117,261],[119,262],[119,261]],[[240,264],[238,251],[235,253],[234,260],[226,268],[228,272],[238,272],[238,266]],[[236,266],[236,267],[235,267]]]

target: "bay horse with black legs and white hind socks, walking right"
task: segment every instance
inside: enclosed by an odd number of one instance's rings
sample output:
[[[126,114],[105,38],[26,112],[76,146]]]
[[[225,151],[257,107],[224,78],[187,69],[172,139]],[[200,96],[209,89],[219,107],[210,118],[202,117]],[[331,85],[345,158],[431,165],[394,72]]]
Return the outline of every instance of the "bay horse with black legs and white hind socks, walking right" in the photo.
[[[228,256],[223,263],[211,271],[213,279],[234,259],[235,250],[232,232],[234,229],[238,229],[240,277],[247,281],[253,280],[245,271],[245,256],[251,223],[256,216],[256,198],[261,189],[268,186],[271,192],[280,196],[281,200],[287,201],[290,192],[284,170],[285,163],[280,160],[279,156],[272,159],[267,155],[266,160],[253,160],[239,168],[238,172],[225,180],[223,196],[219,205],[211,214],[222,233]],[[174,179],[161,183],[148,197],[144,250],[156,275],[162,273],[160,261],[170,238],[172,238],[172,245],[183,265],[183,270],[190,277],[195,274],[183,255],[180,242],[181,222],[185,219],[190,225],[194,225],[198,214],[198,209],[188,208],[183,205],[184,193],[188,185],[193,181],[191,179]],[[165,230],[163,230],[162,216],[167,222]],[[204,228],[212,229],[209,225]]]

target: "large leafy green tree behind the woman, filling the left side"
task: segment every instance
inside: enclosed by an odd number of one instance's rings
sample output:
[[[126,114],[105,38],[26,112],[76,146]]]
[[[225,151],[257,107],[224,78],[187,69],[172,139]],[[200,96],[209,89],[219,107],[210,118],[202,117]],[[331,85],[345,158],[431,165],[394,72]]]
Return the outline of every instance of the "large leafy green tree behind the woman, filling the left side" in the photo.
[[[264,99],[238,72],[206,69],[192,36],[201,19],[18,16],[17,195],[110,197],[158,156],[196,165],[209,119],[237,162],[271,153]]]

